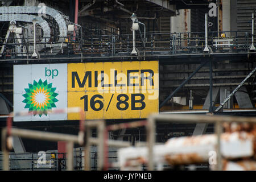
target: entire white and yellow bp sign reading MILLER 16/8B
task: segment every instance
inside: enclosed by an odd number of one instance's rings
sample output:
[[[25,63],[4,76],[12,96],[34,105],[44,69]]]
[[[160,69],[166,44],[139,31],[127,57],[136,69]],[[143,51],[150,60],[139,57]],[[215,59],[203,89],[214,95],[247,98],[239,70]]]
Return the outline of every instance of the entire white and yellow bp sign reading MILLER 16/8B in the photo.
[[[14,121],[147,118],[158,112],[158,61],[14,65]]]

